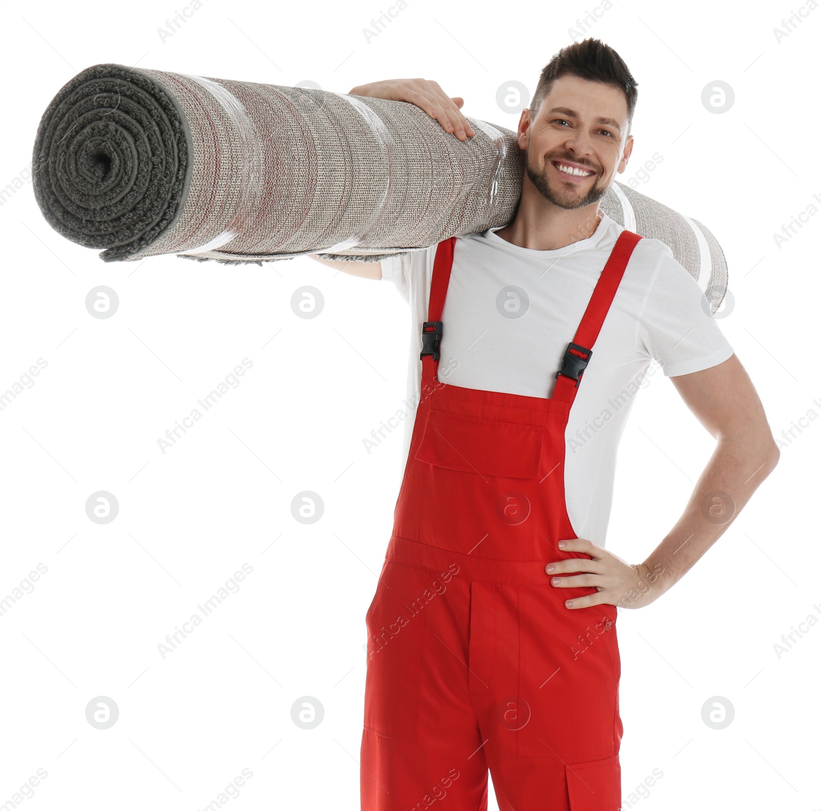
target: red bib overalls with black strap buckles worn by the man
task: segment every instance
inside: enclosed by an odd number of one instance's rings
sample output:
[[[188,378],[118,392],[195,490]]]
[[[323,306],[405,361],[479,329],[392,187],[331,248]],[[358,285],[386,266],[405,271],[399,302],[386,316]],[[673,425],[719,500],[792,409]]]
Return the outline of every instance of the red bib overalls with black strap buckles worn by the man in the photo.
[[[576,538],[565,427],[640,236],[622,231],[550,398],[437,379],[456,238],[439,243],[421,400],[368,627],[363,811],[618,811],[615,606],[544,566]]]

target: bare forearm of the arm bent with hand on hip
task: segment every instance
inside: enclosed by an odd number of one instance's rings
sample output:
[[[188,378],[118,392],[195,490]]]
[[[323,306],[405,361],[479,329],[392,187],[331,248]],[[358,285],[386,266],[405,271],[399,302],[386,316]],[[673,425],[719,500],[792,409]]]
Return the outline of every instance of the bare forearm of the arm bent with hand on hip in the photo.
[[[686,574],[735,520],[773,471],[778,449],[769,429],[719,439],[681,518],[640,566],[658,598]]]

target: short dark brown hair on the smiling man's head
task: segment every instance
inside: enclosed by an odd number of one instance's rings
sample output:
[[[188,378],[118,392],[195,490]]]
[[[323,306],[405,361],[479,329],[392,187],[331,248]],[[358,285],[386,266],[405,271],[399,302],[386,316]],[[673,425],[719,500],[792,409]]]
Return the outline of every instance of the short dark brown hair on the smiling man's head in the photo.
[[[544,97],[553,89],[553,82],[567,73],[623,90],[627,98],[627,131],[630,131],[635,102],[639,95],[636,89],[638,82],[633,78],[624,60],[609,45],[592,37],[562,48],[544,66],[533,91],[533,99],[530,100],[531,120],[539,114]]]

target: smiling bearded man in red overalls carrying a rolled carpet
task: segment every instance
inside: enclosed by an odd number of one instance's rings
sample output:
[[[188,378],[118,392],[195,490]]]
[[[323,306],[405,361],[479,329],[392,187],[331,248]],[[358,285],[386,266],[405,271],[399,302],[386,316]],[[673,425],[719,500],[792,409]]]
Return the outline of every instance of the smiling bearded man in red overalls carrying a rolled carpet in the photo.
[[[510,224],[381,265],[317,257],[394,282],[421,334],[405,475],[366,616],[368,811],[446,796],[451,811],[485,809],[488,768],[502,811],[617,811],[616,607],[670,589],[777,463],[697,283],[667,246],[599,210],[632,152],[635,88],[599,40],[563,48],[521,113]],[[474,135],[462,99],[435,82],[351,94],[415,103]],[[629,565],[603,546],[630,392],[653,359],[716,447],[667,537]]]

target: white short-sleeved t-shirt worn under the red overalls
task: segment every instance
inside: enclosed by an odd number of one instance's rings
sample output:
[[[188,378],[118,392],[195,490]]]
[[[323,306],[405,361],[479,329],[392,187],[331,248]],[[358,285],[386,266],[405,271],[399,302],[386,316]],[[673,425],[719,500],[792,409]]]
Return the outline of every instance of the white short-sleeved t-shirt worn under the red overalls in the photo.
[[[530,250],[489,229],[456,240],[442,315],[438,378],[455,386],[536,397],[555,374],[594,286],[624,228],[603,214],[592,236],[557,250]],[[410,304],[405,409],[406,464],[420,401],[420,334],[428,320],[436,246],[382,260],[382,277]],[[579,538],[603,546],[616,451],[633,396],[653,360],[667,377],[722,363],[732,346],[698,282],[663,242],[635,246],[568,419],[567,513]]]

